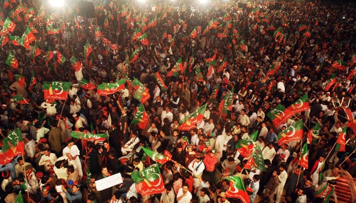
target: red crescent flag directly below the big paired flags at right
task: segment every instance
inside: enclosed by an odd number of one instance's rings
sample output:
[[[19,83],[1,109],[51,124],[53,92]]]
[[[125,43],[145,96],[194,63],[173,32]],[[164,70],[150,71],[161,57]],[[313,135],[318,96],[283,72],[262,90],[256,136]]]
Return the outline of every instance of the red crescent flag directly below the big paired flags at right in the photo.
[[[293,140],[302,140],[303,138],[303,121],[299,120],[292,125],[288,126],[285,130],[280,132],[277,136],[277,143],[289,143]]]

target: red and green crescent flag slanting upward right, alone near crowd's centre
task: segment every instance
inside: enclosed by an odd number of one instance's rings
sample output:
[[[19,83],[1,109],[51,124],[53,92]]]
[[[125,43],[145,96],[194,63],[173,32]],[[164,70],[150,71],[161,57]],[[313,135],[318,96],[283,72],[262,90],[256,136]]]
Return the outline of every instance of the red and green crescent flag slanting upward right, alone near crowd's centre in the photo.
[[[197,110],[189,114],[184,119],[180,120],[179,122],[181,123],[181,125],[178,127],[178,129],[187,131],[192,128],[195,128],[196,125],[200,123],[201,120],[203,119],[205,109],[206,109],[206,104],[199,107]]]

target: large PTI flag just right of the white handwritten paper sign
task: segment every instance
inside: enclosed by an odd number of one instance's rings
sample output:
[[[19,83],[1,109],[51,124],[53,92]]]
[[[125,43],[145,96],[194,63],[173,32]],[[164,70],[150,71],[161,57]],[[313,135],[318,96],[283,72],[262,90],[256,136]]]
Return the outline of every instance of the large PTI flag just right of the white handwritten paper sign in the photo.
[[[132,172],[131,178],[135,182],[136,191],[142,196],[160,194],[165,191],[164,181],[158,165],[146,167],[142,171]]]

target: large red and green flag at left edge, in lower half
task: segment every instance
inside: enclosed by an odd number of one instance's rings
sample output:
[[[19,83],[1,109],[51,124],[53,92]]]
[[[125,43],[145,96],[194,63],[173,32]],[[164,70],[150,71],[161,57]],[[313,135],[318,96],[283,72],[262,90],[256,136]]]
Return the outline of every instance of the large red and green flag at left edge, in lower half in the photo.
[[[16,128],[8,133],[3,140],[2,153],[0,154],[0,164],[8,164],[18,155],[24,154],[24,144],[22,142],[21,130]]]

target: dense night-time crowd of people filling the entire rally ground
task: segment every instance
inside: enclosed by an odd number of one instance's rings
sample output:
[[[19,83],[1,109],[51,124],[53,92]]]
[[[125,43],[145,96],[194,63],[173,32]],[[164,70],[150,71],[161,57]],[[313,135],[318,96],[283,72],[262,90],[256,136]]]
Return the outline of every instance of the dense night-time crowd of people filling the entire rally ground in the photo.
[[[19,5],[23,10],[15,18]],[[22,191],[26,202],[338,202],[338,172],[356,177],[356,129],[347,123],[356,114],[355,5],[94,5],[94,18],[80,17],[73,7],[43,17],[37,1],[3,5],[2,19],[16,23],[11,35],[21,36],[27,24],[36,40],[29,49],[13,40],[1,45],[0,135],[20,128],[25,153],[0,167],[0,201],[15,202]],[[29,8],[34,13],[28,17]],[[60,31],[50,33],[49,25]],[[134,39],[137,30],[146,39]],[[89,54],[87,44],[93,48]],[[41,54],[35,56],[37,48]],[[5,63],[9,52],[17,68]],[[83,67],[73,69],[57,53],[75,56]],[[121,90],[105,96],[80,85],[83,79],[98,87],[123,78]],[[138,90],[128,82],[134,78],[148,90],[148,100],[137,99]],[[46,81],[71,82],[68,97],[44,99]],[[305,94],[310,109],[274,126],[268,113]],[[223,113],[226,97],[230,107]],[[204,104],[202,120],[181,130],[182,121]],[[141,105],[149,121],[143,127],[132,123]],[[338,107],[348,107],[352,118]],[[278,134],[299,120],[303,139],[279,145]],[[302,144],[316,124],[309,167],[300,167]],[[346,125],[345,151],[337,151],[334,144]],[[245,168],[249,157],[236,153],[236,144],[255,131],[265,171]],[[107,137],[76,139],[73,132]],[[140,195],[130,176],[157,164],[143,147],[172,155],[159,165],[162,194]],[[95,181],[117,173],[123,183],[97,190]],[[248,199],[228,195],[228,176],[242,178]]]

